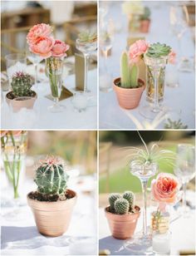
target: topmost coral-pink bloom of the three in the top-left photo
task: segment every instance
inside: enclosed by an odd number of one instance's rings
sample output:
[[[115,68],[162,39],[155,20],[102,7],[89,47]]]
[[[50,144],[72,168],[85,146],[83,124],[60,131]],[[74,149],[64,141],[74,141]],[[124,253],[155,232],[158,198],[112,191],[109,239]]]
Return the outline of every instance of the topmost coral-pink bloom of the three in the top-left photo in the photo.
[[[28,44],[34,44],[37,42],[38,37],[49,37],[51,35],[52,29],[50,25],[45,23],[37,24],[33,26],[27,34]]]

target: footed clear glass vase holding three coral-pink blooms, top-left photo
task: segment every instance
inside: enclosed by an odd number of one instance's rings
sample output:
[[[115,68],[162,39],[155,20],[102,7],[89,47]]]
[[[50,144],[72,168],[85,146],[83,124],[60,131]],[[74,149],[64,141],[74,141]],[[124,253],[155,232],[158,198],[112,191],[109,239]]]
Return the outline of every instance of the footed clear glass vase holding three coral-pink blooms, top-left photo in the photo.
[[[62,87],[62,75],[63,75],[63,57],[49,57],[46,59],[47,74],[51,86],[51,96],[53,97],[54,104],[48,107],[51,112],[61,112],[65,110],[65,106],[59,104],[59,98],[61,96]]]

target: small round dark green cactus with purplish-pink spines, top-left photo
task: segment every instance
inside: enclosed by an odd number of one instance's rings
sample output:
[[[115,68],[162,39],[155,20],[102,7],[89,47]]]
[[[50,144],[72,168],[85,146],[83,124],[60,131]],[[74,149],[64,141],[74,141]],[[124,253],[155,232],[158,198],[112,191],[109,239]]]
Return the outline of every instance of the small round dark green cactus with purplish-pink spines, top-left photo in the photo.
[[[14,96],[32,96],[32,76],[23,71],[18,71],[12,76],[12,91]]]

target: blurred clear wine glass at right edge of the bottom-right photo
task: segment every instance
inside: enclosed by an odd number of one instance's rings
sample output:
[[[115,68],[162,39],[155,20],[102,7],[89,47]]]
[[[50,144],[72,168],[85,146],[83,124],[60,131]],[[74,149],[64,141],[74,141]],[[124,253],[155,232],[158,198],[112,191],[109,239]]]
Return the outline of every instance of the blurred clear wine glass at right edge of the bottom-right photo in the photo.
[[[179,177],[183,185],[182,213],[185,217],[189,210],[186,207],[186,187],[189,180],[195,176],[195,148],[194,145],[179,144],[177,147],[177,159],[174,174]]]

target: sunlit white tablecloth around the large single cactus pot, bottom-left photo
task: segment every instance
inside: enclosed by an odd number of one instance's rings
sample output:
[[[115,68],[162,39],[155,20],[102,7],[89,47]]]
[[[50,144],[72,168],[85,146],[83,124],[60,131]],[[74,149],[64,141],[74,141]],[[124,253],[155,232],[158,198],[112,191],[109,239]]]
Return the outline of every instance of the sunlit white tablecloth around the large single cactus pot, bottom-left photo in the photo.
[[[69,185],[69,188],[75,190],[78,195],[69,229],[60,237],[49,238],[37,232],[32,211],[26,202],[26,194],[36,187],[32,180],[26,179],[21,189],[22,206],[18,208],[7,205],[1,209],[1,254],[76,255],[78,250],[84,255],[96,254],[96,183],[91,176],[81,177],[80,180],[82,180],[80,185],[74,181]],[[2,204],[7,194],[9,198],[12,194],[12,190],[7,188],[4,181],[3,177]],[[91,194],[85,193],[86,190],[91,191]]]

